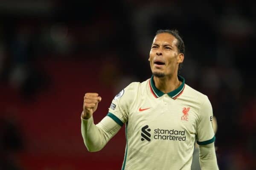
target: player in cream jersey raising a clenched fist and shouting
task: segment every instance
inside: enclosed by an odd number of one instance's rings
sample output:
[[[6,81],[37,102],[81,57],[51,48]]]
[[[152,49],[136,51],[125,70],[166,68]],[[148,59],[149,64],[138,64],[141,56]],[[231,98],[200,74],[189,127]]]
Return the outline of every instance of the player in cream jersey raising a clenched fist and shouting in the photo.
[[[99,124],[93,113],[102,98],[84,95],[81,133],[91,152],[101,150],[125,124],[122,170],[190,170],[195,140],[202,170],[218,170],[212,129],[212,106],[204,94],[178,76],[184,43],[177,31],[159,30],[148,61],[152,77],[132,82],[113,99]]]

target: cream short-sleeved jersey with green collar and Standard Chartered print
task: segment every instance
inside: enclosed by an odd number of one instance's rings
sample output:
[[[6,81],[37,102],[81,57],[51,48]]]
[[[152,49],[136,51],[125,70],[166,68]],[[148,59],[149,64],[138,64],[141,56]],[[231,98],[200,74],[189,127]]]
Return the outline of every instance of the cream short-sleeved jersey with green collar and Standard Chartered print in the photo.
[[[178,78],[182,84],[168,94],[156,88],[152,76],[113,99],[107,116],[125,124],[122,170],[190,170],[195,141],[215,141],[208,97]]]

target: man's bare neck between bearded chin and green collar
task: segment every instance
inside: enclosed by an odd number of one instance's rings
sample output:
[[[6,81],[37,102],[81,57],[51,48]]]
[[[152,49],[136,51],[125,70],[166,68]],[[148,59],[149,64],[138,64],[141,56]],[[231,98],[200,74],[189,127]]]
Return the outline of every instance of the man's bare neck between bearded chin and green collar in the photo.
[[[153,79],[154,79],[156,88],[165,94],[171,91],[174,91],[182,83],[179,81],[177,75],[169,75],[161,78],[154,76]]]

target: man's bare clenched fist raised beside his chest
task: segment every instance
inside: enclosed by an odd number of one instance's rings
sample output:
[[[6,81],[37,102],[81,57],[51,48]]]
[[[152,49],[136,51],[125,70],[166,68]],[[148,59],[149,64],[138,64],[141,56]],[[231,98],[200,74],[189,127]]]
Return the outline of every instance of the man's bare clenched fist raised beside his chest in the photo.
[[[84,95],[83,119],[89,119],[98,108],[98,103],[102,98],[97,93],[86,93]]]

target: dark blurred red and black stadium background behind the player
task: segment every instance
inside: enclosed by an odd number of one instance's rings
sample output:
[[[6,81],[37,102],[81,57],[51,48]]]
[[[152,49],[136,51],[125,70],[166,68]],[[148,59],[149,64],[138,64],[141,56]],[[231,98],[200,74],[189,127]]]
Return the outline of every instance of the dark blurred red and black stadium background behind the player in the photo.
[[[151,77],[158,29],[186,46],[186,83],[206,94],[217,118],[221,170],[256,169],[256,3],[177,0],[0,2],[0,170],[121,169],[124,127],[97,153],[80,132],[86,92],[102,102]]]

